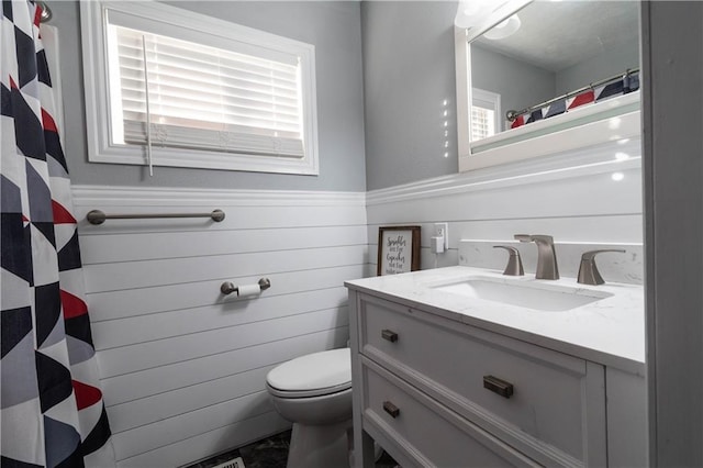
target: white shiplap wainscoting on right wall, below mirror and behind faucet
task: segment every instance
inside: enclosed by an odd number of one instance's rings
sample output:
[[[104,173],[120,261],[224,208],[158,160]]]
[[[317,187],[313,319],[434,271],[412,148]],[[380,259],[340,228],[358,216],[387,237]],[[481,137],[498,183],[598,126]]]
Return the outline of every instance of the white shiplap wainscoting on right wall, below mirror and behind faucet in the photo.
[[[640,141],[633,138],[370,191],[369,260],[377,263],[378,227],[382,225],[422,226],[422,269],[459,265],[462,238],[499,244],[512,242],[517,233],[548,234],[558,243],[639,244],[637,252],[641,252],[640,155]],[[569,164],[563,163],[565,157]],[[437,222],[449,223],[449,250],[435,255],[429,238]],[[492,268],[503,268],[503,260]],[[599,264],[611,260],[618,258],[599,257]],[[638,261],[641,264],[641,256]],[[525,264],[526,271],[534,269],[535,265]]]

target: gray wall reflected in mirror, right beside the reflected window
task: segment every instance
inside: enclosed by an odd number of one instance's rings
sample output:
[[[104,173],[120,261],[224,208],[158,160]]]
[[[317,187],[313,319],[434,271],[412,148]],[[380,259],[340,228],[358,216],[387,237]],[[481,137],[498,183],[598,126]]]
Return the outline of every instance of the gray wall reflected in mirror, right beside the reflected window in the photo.
[[[555,83],[551,71],[471,45],[471,86],[501,94],[503,125],[505,111],[520,111],[554,98]]]

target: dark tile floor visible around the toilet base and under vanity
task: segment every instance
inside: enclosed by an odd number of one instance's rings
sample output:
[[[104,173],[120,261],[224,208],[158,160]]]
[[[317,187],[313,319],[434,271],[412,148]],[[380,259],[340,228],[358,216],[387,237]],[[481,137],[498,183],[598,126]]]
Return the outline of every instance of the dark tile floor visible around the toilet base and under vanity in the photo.
[[[188,468],[212,468],[235,457],[242,457],[245,468],[286,468],[290,431],[274,435],[263,441],[245,445],[236,450],[221,454]],[[386,453],[376,463],[376,468],[395,468],[398,464]]]

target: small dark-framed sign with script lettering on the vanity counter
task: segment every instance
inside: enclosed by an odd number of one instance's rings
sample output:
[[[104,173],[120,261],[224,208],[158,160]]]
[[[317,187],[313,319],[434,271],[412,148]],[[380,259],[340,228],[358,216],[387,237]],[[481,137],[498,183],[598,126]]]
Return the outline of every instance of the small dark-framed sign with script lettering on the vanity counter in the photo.
[[[378,229],[377,275],[395,275],[420,269],[420,226]]]

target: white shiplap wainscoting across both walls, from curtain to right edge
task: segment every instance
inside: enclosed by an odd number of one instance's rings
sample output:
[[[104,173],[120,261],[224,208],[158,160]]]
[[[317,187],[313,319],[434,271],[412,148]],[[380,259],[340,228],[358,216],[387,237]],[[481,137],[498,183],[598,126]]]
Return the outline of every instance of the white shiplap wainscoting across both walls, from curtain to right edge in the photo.
[[[639,142],[629,151],[636,152]],[[614,181],[613,171],[624,178]],[[558,175],[456,175],[368,193],[75,187],[93,337],[120,466],[180,466],[289,427],[264,382],[277,364],[346,344],[346,279],[373,275],[380,225],[422,226],[422,268],[461,238],[517,232],[641,242],[639,160]],[[226,212],[108,221],[86,213]],[[433,223],[449,250],[429,252]],[[498,268],[498,267],[496,267]],[[271,280],[250,300],[223,281]]]

